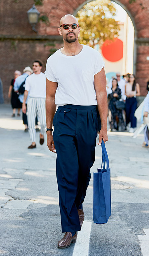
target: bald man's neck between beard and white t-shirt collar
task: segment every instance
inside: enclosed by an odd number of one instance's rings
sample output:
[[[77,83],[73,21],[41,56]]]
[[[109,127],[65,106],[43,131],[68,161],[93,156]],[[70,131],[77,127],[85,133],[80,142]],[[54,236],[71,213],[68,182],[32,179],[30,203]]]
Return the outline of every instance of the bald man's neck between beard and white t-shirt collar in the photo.
[[[61,49],[61,52],[67,56],[75,56],[80,53],[82,48],[83,48],[83,45],[80,44],[78,40],[75,41],[74,43],[68,43],[64,41],[64,47]]]

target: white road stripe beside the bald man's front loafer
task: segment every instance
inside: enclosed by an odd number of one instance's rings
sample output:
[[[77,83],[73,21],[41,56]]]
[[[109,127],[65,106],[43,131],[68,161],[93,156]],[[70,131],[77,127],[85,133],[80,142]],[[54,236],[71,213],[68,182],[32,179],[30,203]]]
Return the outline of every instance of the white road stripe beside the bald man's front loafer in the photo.
[[[73,256],[88,256],[91,226],[92,222],[83,221],[81,231],[77,233]]]

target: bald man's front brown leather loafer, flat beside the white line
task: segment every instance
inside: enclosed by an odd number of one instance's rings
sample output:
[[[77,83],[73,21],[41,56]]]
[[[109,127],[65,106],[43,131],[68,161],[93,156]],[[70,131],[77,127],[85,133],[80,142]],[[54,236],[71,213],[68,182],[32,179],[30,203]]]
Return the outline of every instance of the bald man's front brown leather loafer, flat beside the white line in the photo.
[[[72,237],[72,232],[66,232],[64,237],[58,241],[58,248],[67,248],[71,243],[76,243],[77,233]]]

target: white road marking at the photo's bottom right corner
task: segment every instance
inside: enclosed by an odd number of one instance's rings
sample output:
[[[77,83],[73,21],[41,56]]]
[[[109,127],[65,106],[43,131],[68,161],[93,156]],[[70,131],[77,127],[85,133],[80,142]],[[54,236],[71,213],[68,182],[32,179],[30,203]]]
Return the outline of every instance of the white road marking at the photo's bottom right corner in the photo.
[[[145,235],[138,235],[143,256],[149,255],[149,228],[143,228]]]

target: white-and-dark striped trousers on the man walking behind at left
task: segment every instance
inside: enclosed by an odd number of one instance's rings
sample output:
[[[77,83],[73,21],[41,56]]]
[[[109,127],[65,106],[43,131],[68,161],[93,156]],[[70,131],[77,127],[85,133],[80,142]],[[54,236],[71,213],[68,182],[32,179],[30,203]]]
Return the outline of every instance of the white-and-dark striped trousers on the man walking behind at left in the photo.
[[[33,98],[30,97],[27,101],[27,121],[29,136],[31,142],[36,142],[36,130],[35,130],[35,118],[38,117],[40,122],[41,130],[40,133],[44,134],[46,127],[45,117],[45,98]]]

